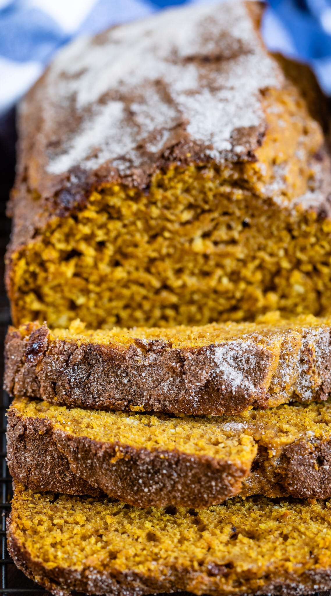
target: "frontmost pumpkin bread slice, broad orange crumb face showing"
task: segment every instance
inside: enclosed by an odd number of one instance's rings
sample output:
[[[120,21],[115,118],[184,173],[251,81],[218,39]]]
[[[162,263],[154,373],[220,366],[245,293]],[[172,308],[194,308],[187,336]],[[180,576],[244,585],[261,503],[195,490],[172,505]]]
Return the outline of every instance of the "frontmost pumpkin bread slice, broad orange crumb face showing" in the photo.
[[[143,510],[17,485],[7,531],[17,566],[57,596],[331,587],[330,501],[236,497],[208,510]]]

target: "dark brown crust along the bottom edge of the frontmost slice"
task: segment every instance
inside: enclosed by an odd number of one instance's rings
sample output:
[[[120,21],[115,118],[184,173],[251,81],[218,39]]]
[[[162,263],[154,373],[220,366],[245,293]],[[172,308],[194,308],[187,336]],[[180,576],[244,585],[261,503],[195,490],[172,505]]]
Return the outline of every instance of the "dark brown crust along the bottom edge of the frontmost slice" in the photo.
[[[217,576],[210,577],[207,573],[174,567],[170,573],[163,575],[162,581],[138,575],[130,570],[125,573],[116,573],[115,571],[111,573],[100,572],[93,568],[83,569],[82,572],[60,567],[46,569],[41,561],[33,560],[29,551],[18,542],[15,537],[15,522],[12,521],[12,517],[11,514],[7,519],[8,552],[18,569],[48,589],[54,596],[70,596],[73,591],[96,596],[104,594],[142,596],[188,590],[195,594],[211,594],[212,596],[244,596],[246,594],[300,596],[312,594],[317,590],[327,591],[331,588],[330,569],[307,570],[300,575],[295,572],[284,573],[281,569],[275,569],[265,578],[258,578],[258,583],[261,580],[265,582],[262,586],[260,583],[258,588],[255,578],[239,577],[241,587],[235,590],[222,589],[217,582]]]

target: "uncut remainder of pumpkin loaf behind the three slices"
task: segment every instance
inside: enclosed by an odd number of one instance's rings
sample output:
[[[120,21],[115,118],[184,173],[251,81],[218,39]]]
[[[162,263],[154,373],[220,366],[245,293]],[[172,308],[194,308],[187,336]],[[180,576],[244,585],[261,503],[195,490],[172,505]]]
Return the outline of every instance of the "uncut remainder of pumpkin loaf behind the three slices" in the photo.
[[[13,322],[89,328],[324,315],[330,156],[261,6],[169,10],[61,50],[20,108]]]

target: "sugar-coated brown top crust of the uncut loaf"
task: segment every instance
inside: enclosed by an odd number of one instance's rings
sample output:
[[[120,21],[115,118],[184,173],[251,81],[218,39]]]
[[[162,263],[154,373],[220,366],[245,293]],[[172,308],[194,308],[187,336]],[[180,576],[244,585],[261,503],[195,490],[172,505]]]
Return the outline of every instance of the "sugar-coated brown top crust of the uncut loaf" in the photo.
[[[254,159],[260,91],[285,80],[259,17],[258,3],[229,0],[68,45],[21,105],[28,186],[45,196],[93,179],[143,186],[163,163]]]

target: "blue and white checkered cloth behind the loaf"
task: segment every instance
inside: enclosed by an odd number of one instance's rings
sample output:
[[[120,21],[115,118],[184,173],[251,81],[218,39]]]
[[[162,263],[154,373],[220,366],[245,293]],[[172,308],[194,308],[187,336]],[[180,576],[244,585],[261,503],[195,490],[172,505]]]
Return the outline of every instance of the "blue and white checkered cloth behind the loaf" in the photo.
[[[0,0],[0,114],[74,36],[170,5],[207,1],[212,0]],[[270,49],[310,61],[331,94],[331,0],[270,0],[263,34]]]

